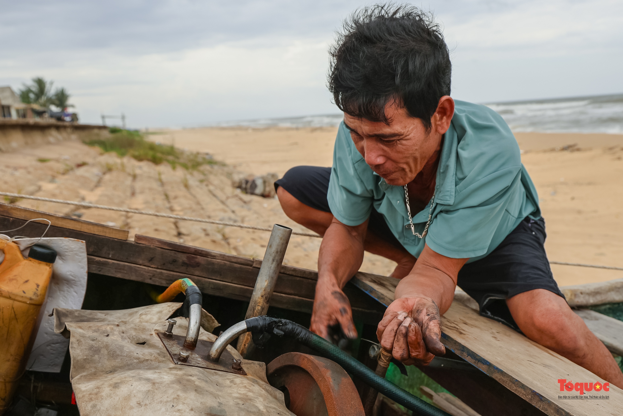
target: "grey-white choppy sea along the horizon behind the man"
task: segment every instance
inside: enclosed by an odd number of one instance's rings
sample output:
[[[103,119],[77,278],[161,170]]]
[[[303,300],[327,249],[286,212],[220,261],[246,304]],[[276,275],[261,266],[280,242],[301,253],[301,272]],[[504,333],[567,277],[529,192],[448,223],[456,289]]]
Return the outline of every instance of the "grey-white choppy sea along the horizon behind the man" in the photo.
[[[483,103],[502,115],[513,132],[623,134],[623,94]],[[218,127],[336,127],[341,114],[235,120]]]

